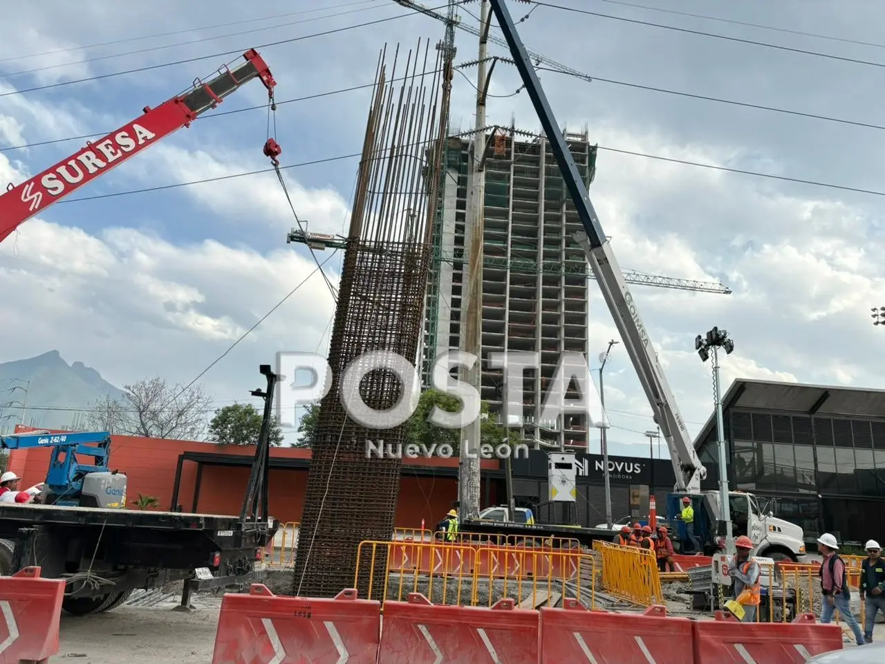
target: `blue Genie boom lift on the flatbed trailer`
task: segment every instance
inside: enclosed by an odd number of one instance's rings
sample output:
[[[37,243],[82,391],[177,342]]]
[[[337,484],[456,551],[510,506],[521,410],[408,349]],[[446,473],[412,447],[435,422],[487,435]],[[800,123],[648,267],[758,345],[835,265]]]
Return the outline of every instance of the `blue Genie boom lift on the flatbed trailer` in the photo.
[[[126,475],[108,467],[111,434],[107,431],[50,434],[45,431],[0,436],[0,449],[52,449],[39,502],[69,507],[126,506]],[[90,459],[91,463],[81,463]]]

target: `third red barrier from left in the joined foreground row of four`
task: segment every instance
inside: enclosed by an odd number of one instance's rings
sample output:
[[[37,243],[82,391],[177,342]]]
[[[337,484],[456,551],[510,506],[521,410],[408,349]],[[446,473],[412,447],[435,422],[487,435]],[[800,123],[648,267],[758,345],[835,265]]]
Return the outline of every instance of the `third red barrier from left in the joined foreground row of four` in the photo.
[[[694,622],[667,617],[664,606],[649,606],[644,614],[588,611],[574,600],[564,606],[541,609],[538,661],[692,664]]]

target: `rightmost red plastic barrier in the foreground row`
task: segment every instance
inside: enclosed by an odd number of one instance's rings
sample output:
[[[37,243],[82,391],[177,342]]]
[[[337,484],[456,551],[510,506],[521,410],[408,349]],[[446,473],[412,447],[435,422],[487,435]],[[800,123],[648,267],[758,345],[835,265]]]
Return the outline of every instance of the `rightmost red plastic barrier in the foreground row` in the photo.
[[[791,623],[737,622],[717,611],[715,621],[695,622],[695,664],[794,664],[842,647],[842,629],[816,623],[814,614]]]

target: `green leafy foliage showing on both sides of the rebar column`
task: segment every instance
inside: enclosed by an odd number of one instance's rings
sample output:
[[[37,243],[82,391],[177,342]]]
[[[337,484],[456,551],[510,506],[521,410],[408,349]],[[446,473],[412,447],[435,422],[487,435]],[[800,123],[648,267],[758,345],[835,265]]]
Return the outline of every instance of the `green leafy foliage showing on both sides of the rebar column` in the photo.
[[[412,413],[412,417],[405,423],[404,444],[424,444],[426,449],[436,444],[450,444],[458,452],[460,431],[458,429],[443,429],[427,421],[434,406],[438,405],[449,413],[456,413],[461,407],[457,398],[451,397],[439,390],[425,390],[418,401],[418,407]],[[481,440],[491,445],[500,444],[507,436],[506,429],[498,424],[494,417],[489,414],[489,404],[482,402],[480,408]],[[301,444],[310,447],[316,441],[317,427],[319,424],[319,403],[307,405],[304,414],[298,422],[298,433],[302,434]]]

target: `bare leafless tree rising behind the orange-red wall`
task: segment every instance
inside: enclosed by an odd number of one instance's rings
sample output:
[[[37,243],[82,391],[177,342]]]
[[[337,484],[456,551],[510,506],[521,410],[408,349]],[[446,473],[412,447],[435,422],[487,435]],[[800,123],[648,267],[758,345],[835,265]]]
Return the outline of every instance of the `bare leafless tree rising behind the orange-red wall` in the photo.
[[[170,385],[147,378],[126,385],[123,398],[105,396],[89,406],[89,429],[123,436],[201,440],[212,397],[201,385]]]

